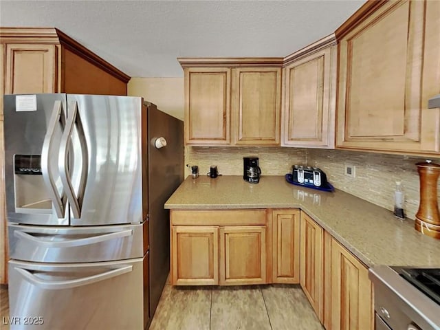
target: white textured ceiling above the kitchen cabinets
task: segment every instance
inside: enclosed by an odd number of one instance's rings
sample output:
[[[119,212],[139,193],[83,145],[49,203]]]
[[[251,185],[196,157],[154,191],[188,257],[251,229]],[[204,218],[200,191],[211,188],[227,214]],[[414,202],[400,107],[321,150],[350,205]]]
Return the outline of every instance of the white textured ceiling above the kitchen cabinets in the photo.
[[[363,3],[0,0],[0,25],[58,28],[129,76],[179,77],[177,57],[286,56]]]

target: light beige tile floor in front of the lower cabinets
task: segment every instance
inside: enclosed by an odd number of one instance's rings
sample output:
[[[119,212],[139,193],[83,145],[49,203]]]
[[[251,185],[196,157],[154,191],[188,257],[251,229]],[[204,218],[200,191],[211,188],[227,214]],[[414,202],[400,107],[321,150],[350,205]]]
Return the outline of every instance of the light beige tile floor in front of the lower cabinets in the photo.
[[[3,317],[9,316],[8,290],[5,286],[1,286],[0,293],[0,329],[8,330],[8,325],[1,322]],[[323,330],[324,328],[298,285],[173,287],[167,283],[150,329]]]

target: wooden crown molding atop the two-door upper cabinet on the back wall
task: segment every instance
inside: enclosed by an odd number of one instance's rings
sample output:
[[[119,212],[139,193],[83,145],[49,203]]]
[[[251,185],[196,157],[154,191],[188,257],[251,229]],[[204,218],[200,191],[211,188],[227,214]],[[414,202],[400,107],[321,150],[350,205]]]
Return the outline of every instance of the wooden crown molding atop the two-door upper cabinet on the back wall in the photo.
[[[178,57],[181,67],[281,67],[282,57]]]

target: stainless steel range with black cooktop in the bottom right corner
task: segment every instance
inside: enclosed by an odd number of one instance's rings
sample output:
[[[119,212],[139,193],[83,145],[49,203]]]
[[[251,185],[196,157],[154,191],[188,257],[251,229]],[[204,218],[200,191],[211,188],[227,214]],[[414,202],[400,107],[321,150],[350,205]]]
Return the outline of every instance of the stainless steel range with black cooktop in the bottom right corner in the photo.
[[[369,277],[375,329],[440,330],[440,268],[378,266]]]

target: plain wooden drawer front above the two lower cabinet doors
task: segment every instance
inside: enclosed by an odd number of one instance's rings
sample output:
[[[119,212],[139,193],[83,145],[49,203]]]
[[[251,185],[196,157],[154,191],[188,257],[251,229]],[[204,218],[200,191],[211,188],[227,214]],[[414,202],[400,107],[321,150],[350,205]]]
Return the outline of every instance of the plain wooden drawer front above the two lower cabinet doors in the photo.
[[[266,210],[171,210],[171,225],[265,225]]]

